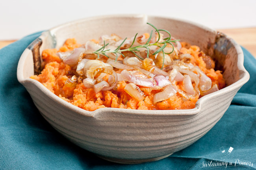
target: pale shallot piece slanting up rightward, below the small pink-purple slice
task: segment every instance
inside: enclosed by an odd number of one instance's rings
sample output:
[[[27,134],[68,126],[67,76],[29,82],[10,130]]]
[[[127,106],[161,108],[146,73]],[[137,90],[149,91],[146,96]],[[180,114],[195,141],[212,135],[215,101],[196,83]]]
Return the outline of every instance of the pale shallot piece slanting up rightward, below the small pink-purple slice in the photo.
[[[154,95],[153,103],[155,104],[156,102],[167,100],[176,93],[177,91],[175,90],[175,88],[172,85],[169,85],[163,91]]]

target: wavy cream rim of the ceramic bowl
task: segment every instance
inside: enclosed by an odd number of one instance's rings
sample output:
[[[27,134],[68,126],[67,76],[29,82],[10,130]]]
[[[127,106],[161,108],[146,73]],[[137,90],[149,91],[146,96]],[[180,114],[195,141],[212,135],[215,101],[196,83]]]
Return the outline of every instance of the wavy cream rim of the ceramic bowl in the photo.
[[[147,20],[148,17],[165,18],[165,19],[169,19],[169,20],[176,20],[179,22],[185,22],[188,24],[192,24],[194,26],[198,26],[205,30],[208,30],[212,33],[215,33],[215,34],[217,33],[217,31],[215,29],[211,29],[211,28],[203,26],[201,24],[197,24],[195,22],[191,22],[191,21],[187,21],[187,20],[183,20],[183,19],[167,17],[167,16],[141,15],[141,14],[104,15],[104,16],[87,17],[87,18],[74,20],[71,22],[66,22],[64,24],[60,24],[58,26],[52,27],[51,29],[44,31],[41,34],[41,36],[39,36],[37,39],[35,39],[32,43],[34,43],[35,41],[37,41],[39,39],[43,39],[46,35],[50,35],[50,36],[54,37],[54,32],[57,31],[58,29],[60,29],[61,27],[66,27],[66,26],[69,26],[72,24],[76,24],[78,22],[85,22],[86,20],[96,20],[96,19],[102,19],[102,18],[122,18],[122,17],[127,17],[127,18],[143,17],[144,20]],[[206,96],[201,97],[200,99],[198,99],[198,101],[195,104],[195,108],[193,108],[193,109],[186,109],[186,110],[134,110],[134,109],[122,109],[122,108],[99,108],[99,109],[96,109],[95,111],[84,110],[82,108],[79,108],[78,106],[74,106],[73,104],[71,104],[67,101],[64,101],[63,99],[61,99],[60,97],[58,97],[57,95],[52,93],[50,90],[48,90],[43,84],[41,84],[37,80],[30,79],[30,78],[24,79],[24,76],[23,76],[24,63],[25,63],[25,59],[26,59],[28,53],[30,52],[30,49],[28,49],[28,48],[26,48],[23,51],[23,53],[19,59],[19,63],[18,63],[18,67],[17,67],[17,78],[18,78],[18,81],[22,85],[25,86],[26,84],[32,84],[33,86],[37,86],[45,95],[50,97],[52,100],[58,102],[59,104],[61,104],[66,109],[72,110],[73,112],[76,112],[76,113],[79,113],[81,115],[88,116],[88,117],[94,117],[95,115],[100,114],[102,112],[105,112],[105,113],[118,112],[118,113],[124,113],[124,114],[129,113],[131,115],[143,114],[143,115],[158,115],[158,116],[161,116],[161,115],[176,115],[176,116],[196,115],[197,113],[200,112],[202,105],[205,101],[207,101],[208,99],[210,99],[212,97],[216,97],[216,96],[228,93],[230,91],[234,91],[237,88],[241,88],[241,86],[243,86],[243,84],[245,84],[250,78],[248,71],[245,69],[245,67],[243,65],[243,62],[244,62],[243,50],[241,49],[239,44],[237,44],[237,42],[235,42],[232,38],[230,38],[226,35],[224,35],[224,37],[227,38],[228,40],[230,40],[231,44],[235,47],[235,49],[237,51],[237,68],[239,69],[239,74],[240,74],[239,80],[237,80],[233,84],[230,84],[229,86],[227,86],[221,90],[215,91],[213,93],[210,93]]]

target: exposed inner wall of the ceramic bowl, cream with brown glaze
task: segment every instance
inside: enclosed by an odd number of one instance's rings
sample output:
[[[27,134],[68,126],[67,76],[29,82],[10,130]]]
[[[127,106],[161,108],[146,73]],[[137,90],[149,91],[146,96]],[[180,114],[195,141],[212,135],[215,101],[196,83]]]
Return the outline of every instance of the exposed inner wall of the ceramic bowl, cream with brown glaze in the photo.
[[[112,33],[122,38],[133,37],[136,33],[142,34],[154,30],[147,22],[158,29],[168,30],[173,37],[181,41],[199,46],[202,51],[215,60],[215,69],[223,71],[227,86],[239,80],[236,48],[223,34],[180,20],[144,15],[88,18],[64,24],[43,33],[43,36],[37,39],[30,48],[32,52],[40,51],[40,53],[33,52],[34,73],[38,74],[42,69],[39,67],[42,51],[47,48],[60,48],[67,38],[76,38],[78,43],[84,44],[87,40],[97,39],[101,35],[111,35]],[[24,75],[24,78],[30,76]]]

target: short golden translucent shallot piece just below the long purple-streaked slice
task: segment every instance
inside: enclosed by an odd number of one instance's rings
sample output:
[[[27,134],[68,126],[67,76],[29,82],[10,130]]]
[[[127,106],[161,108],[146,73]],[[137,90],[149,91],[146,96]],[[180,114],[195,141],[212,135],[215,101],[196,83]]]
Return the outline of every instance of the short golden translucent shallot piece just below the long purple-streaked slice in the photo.
[[[134,83],[126,84],[124,91],[137,101],[143,101],[145,99],[145,94]]]

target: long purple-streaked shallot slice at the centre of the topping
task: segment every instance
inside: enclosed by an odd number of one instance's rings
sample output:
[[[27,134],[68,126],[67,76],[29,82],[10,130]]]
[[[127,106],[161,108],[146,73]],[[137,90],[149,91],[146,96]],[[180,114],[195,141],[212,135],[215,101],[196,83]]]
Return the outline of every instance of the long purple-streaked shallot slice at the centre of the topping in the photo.
[[[128,82],[131,82],[131,83],[134,83],[136,85],[139,85],[139,86],[144,86],[144,87],[154,87],[154,82],[150,79],[143,79],[141,77],[136,77],[134,75],[131,75],[129,73],[129,71],[127,71],[126,69],[124,69],[122,72],[121,72],[121,76],[124,80],[128,81]]]

